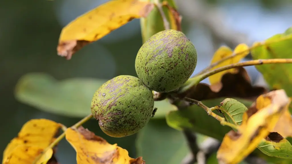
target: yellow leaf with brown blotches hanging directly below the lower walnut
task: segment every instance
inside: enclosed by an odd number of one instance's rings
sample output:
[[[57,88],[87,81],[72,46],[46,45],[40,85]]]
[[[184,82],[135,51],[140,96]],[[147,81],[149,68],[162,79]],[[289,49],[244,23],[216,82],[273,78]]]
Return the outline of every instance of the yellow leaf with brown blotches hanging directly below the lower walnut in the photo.
[[[77,164],[142,164],[142,158],[133,159],[128,156],[128,151],[109,144],[105,139],[96,136],[93,132],[82,126],[77,130],[68,128],[66,139],[77,152]]]

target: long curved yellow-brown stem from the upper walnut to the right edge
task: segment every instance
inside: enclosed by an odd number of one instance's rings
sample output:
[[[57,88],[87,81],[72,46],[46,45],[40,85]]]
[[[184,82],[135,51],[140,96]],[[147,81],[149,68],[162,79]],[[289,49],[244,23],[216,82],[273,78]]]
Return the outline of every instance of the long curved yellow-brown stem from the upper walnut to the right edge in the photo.
[[[239,62],[230,64],[224,67],[219,67],[217,69],[213,69],[211,71],[205,72],[201,75],[194,76],[190,78],[185,85],[180,89],[180,93],[188,92],[192,87],[196,86],[199,82],[204,80],[205,78],[208,78],[209,76],[213,74],[217,74],[218,72],[225,71],[231,68],[237,68],[237,67],[246,67],[246,66],[252,66],[252,65],[262,65],[262,64],[276,64],[276,63],[292,63],[292,59],[260,59],[260,60],[249,60],[246,62]]]

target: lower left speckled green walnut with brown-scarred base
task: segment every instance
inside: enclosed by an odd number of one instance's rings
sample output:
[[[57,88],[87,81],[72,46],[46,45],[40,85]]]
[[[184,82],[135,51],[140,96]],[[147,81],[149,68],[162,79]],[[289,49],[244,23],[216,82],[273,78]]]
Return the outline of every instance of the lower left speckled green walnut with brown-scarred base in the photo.
[[[91,113],[103,132],[112,137],[133,135],[150,120],[152,91],[134,76],[121,75],[105,82],[91,101]]]

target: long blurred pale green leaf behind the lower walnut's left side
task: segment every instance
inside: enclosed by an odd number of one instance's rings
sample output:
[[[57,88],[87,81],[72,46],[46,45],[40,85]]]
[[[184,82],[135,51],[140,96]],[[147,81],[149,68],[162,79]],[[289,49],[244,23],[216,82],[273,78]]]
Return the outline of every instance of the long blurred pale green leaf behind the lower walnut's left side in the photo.
[[[22,76],[15,88],[18,101],[43,111],[67,117],[91,113],[92,96],[105,79],[71,78],[57,81],[50,75],[30,73]]]

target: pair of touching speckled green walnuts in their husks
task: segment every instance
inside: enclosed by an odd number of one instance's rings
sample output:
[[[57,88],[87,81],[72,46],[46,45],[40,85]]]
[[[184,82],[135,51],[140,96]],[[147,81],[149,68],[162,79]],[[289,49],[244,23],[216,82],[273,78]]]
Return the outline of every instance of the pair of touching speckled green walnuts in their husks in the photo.
[[[153,113],[152,90],[178,89],[196,65],[197,51],[185,34],[172,29],[158,32],[138,51],[135,69],[139,78],[120,75],[105,82],[93,96],[91,112],[107,135],[133,135]]]

